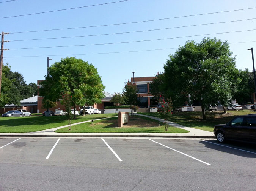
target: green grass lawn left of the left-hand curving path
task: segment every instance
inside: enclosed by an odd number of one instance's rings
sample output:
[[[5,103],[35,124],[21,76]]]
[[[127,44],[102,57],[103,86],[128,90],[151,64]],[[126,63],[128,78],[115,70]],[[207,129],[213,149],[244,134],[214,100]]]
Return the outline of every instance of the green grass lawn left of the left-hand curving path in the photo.
[[[78,115],[71,123],[113,117],[118,114]],[[35,132],[68,125],[66,116],[0,117],[0,132]]]

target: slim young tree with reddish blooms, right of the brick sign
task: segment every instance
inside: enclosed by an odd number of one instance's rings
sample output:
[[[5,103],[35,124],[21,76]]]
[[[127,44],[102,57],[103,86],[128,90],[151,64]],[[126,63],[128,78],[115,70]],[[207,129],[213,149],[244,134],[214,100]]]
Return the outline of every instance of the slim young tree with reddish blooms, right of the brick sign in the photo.
[[[161,108],[159,108],[159,113],[160,113],[161,117],[164,119],[165,131],[167,131],[168,130],[169,118],[172,115],[171,102],[169,100],[168,100],[168,102],[165,102],[165,99],[160,95],[159,103],[162,104]]]

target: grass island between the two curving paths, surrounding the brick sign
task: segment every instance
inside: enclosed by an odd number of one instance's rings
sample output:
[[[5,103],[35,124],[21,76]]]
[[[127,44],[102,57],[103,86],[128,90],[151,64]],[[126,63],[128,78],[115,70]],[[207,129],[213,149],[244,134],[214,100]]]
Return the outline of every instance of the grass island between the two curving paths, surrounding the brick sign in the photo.
[[[160,124],[160,126],[159,126]],[[104,120],[94,121],[93,124],[83,123],[71,126],[69,128],[58,129],[55,132],[144,132],[144,133],[185,133],[189,132],[184,129],[169,126],[168,131],[165,131],[165,126],[162,122],[150,119],[148,117],[137,116],[130,118],[130,123],[123,127],[118,127],[118,118],[109,118]]]

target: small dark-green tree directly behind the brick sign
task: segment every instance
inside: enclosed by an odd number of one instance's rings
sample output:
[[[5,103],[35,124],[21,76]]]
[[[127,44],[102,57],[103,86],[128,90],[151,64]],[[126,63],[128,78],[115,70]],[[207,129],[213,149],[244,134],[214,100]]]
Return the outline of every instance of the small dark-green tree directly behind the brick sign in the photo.
[[[137,103],[137,93],[138,93],[138,89],[136,85],[132,82],[129,82],[129,80],[127,80],[123,88],[123,96],[126,104],[130,106],[132,117],[133,117],[135,105]]]

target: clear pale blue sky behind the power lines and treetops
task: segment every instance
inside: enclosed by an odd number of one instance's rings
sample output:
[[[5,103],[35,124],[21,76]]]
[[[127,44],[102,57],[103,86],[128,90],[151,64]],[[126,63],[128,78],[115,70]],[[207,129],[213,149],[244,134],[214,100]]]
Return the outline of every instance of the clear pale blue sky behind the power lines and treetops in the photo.
[[[3,1],[6,0],[0,0],[0,2]],[[115,1],[117,0],[16,0],[12,2],[0,3],[0,17],[2,18],[15,15],[53,11],[58,9],[68,9]],[[109,25],[253,7],[256,7],[255,0],[129,0],[126,2],[50,12],[45,14],[2,18],[0,19],[0,30],[4,32],[24,32],[58,28]],[[205,23],[227,22],[251,18],[256,18],[256,9],[173,18],[126,25],[8,34],[5,35],[5,40],[12,41],[24,39],[111,34],[119,32],[144,31],[151,29],[198,25]],[[37,80],[44,79],[44,75],[47,74],[47,57],[52,59],[50,60],[50,64],[52,64],[54,62],[59,62],[60,59],[62,57],[66,57],[66,55],[72,56],[75,54],[81,54],[75,55],[75,57],[81,58],[82,60],[88,61],[88,63],[92,63],[94,66],[96,66],[99,75],[102,77],[102,82],[106,86],[105,91],[114,93],[122,91],[125,80],[130,79],[133,76],[132,72],[135,72],[135,77],[154,76],[157,74],[157,72],[163,71],[163,65],[168,59],[168,55],[174,54],[176,50],[175,48],[178,46],[183,46],[187,40],[195,40],[196,42],[200,42],[204,36],[155,40],[147,42],[118,43],[110,45],[71,46],[40,49],[16,48],[129,42],[220,32],[245,31],[252,29],[256,29],[256,19],[240,22],[165,29],[158,31],[134,32],[129,34],[8,42],[5,43],[4,48],[8,48],[10,50],[4,51],[3,63],[9,63],[12,71],[20,72],[27,83],[36,83]],[[256,42],[236,42],[256,41],[256,31],[233,32],[228,34],[205,36],[211,38],[216,37],[217,39],[221,39],[223,41],[227,40],[229,43],[234,43],[230,44],[230,49],[233,52],[233,55],[236,55],[237,68],[248,68],[250,71],[252,71],[251,51],[248,51],[247,49],[253,47],[256,50]],[[153,49],[165,50],[144,51]],[[106,52],[125,53],[94,54]]]

